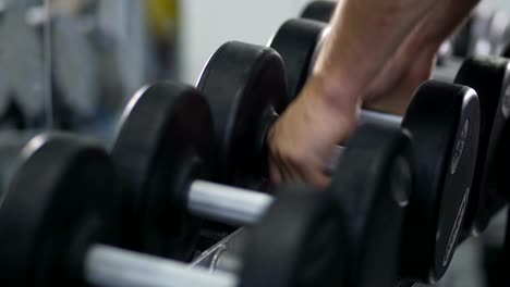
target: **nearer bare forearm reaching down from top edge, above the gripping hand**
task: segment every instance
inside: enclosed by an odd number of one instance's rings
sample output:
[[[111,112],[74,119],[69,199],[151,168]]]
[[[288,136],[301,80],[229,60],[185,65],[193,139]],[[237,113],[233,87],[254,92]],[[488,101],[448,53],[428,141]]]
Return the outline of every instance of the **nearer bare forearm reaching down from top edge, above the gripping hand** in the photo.
[[[339,2],[331,32],[314,68],[314,76],[327,85],[324,96],[332,104],[335,101],[343,104],[345,97],[359,97],[435,3],[435,0]]]

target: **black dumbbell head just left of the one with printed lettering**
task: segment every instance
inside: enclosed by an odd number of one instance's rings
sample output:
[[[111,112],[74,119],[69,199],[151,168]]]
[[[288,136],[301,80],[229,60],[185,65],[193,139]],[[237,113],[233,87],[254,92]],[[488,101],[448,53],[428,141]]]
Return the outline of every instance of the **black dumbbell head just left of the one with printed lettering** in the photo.
[[[347,214],[345,286],[396,286],[413,176],[411,138],[400,127],[364,124],[347,142],[330,186]]]

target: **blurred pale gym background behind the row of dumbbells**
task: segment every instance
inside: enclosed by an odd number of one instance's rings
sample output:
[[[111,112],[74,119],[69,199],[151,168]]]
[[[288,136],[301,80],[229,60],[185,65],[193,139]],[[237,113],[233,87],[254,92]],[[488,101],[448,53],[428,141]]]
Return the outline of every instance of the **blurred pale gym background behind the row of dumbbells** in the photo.
[[[306,2],[0,0],[0,149],[48,128],[108,144],[141,86],[165,78],[194,84],[221,43],[265,45]],[[481,8],[510,33],[509,1]],[[496,286],[490,264],[503,224],[496,220],[487,235],[463,245],[441,284]]]

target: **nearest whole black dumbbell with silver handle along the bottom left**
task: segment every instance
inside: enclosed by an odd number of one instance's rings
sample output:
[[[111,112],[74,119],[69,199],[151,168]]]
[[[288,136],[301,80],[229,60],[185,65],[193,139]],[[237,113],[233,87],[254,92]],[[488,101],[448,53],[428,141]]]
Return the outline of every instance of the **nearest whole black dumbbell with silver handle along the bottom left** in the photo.
[[[89,140],[41,135],[20,157],[0,209],[0,279],[4,286],[253,286],[247,282],[253,274],[250,270],[241,276],[209,274],[111,246],[121,239],[122,191],[108,154]],[[289,245],[284,250],[271,249],[271,240],[267,241],[271,237],[264,237],[262,242],[253,238],[247,246],[268,246],[270,255],[280,260],[280,280],[274,286],[299,286],[296,280],[333,286],[342,280],[347,230],[343,214],[332,202],[328,194],[306,186],[282,187],[255,234],[292,226],[286,229],[290,238],[281,238],[289,239]],[[290,223],[289,210],[300,211]],[[283,226],[277,227],[279,224]],[[247,254],[245,264],[253,264],[251,260],[259,263],[269,250]],[[323,265],[314,273],[296,274],[302,266],[318,267],[316,254],[330,257],[320,257]]]

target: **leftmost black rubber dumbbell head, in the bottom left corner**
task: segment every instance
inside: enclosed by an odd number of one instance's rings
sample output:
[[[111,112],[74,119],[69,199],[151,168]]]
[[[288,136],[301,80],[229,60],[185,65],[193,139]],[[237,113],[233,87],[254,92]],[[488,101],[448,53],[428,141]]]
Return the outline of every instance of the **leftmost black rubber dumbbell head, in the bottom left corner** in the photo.
[[[120,189],[108,154],[64,135],[41,135],[21,154],[0,208],[3,286],[84,286],[95,242],[117,244]]]

